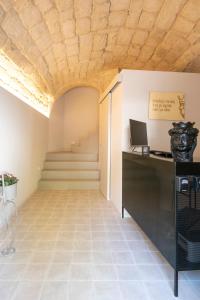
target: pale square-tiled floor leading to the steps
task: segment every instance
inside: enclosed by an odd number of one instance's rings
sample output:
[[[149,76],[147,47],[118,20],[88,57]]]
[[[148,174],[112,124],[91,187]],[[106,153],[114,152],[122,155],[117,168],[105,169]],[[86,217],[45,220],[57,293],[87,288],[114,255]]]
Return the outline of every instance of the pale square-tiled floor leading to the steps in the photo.
[[[15,246],[0,257],[1,300],[175,299],[171,267],[97,191],[38,191],[20,210]],[[179,299],[200,299],[200,272],[179,285]]]

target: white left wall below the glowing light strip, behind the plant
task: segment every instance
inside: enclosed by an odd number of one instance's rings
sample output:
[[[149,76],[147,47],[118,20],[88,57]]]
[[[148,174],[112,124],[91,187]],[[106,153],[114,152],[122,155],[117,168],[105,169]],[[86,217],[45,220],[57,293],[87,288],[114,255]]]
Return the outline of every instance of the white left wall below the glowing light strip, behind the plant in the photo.
[[[18,205],[37,189],[47,139],[48,119],[0,88],[0,170],[19,178]]]

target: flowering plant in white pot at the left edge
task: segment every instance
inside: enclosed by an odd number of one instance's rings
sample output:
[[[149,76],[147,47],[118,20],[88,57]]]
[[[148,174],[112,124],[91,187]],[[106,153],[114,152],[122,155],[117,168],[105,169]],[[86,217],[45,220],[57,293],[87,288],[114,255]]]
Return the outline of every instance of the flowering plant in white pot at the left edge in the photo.
[[[7,201],[15,200],[17,196],[17,182],[18,179],[12,174],[4,173],[0,175],[0,193]],[[3,189],[4,187],[4,189]]]

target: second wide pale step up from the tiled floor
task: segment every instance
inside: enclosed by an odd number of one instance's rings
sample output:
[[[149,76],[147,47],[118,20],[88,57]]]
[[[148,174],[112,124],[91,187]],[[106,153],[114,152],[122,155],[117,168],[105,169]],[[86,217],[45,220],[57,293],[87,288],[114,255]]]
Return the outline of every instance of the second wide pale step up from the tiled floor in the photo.
[[[45,170],[42,172],[42,179],[99,179],[99,171]]]

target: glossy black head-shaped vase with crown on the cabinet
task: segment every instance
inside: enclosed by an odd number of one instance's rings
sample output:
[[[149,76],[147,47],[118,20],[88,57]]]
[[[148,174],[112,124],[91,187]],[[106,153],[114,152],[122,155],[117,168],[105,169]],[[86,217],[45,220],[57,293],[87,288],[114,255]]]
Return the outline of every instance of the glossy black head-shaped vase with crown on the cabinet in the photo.
[[[168,132],[171,136],[171,151],[174,161],[193,161],[193,152],[199,133],[197,128],[193,128],[194,124],[191,122],[172,123],[174,128]]]

